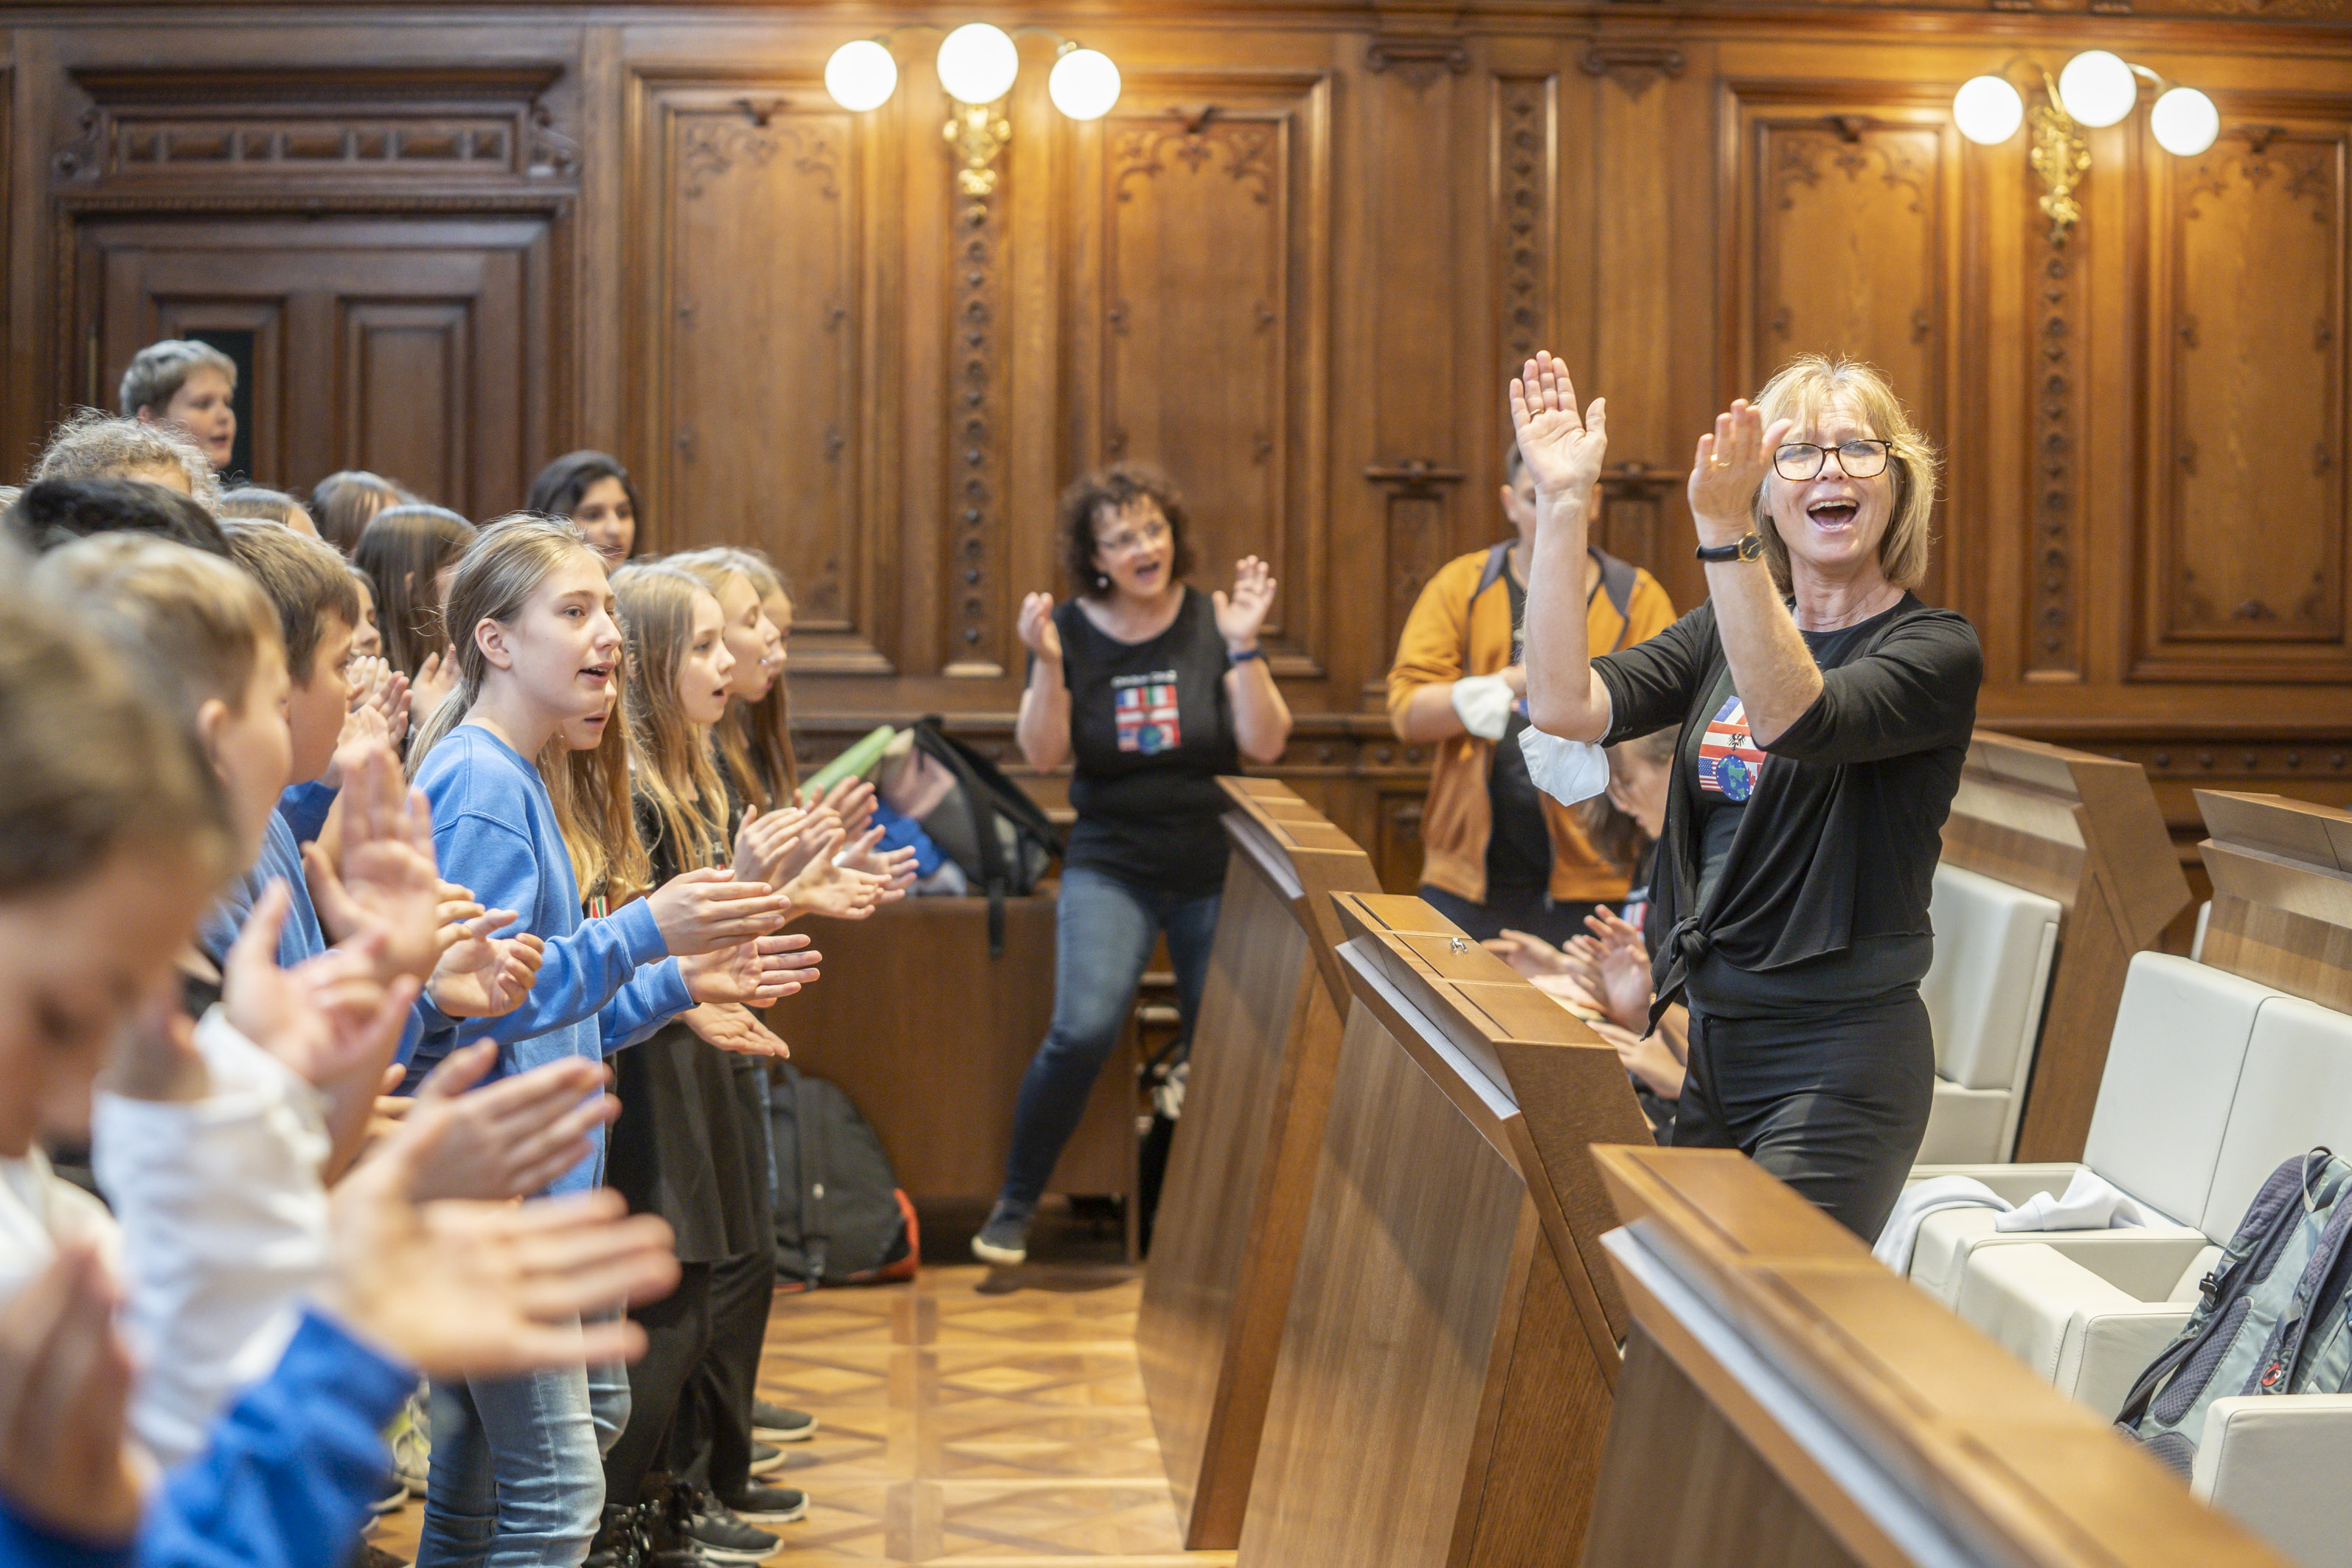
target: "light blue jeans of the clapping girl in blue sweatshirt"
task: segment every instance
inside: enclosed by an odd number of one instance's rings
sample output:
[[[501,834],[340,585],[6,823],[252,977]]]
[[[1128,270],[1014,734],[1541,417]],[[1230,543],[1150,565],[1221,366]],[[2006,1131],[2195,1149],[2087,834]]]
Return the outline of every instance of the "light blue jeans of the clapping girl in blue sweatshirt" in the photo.
[[[602,1448],[623,1425],[619,1366],[435,1380],[419,1568],[576,1568],[604,1514]]]

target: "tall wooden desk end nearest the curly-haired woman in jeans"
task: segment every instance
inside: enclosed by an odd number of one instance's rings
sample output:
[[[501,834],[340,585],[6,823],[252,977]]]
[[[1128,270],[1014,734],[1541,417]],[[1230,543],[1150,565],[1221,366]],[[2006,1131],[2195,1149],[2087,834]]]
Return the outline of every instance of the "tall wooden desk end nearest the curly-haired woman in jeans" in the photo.
[[[1192,1549],[1242,1533],[1338,1063],[1329,896],[1376,886],[1364,851],[1287,788],[1225,790],[1232,863],[1136,1319]]]

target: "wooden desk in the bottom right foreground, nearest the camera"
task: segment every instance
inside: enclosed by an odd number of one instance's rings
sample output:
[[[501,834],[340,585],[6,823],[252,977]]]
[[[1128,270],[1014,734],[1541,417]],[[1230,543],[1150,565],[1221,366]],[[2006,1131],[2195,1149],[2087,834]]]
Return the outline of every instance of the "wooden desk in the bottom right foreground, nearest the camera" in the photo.
[[[1585,1568],[2281,1568],[1740,1154],[1595,1159],[1635,1331]]]

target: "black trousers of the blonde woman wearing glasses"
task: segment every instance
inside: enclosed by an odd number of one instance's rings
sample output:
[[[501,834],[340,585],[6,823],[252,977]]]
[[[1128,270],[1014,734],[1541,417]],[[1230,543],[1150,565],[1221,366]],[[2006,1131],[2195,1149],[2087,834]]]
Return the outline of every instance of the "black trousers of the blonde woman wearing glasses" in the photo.
[[[1675,1145],[1740,1150],[1863,1241],[1903,1192],[1936,1098],[1936,1041],[1919,992],[1818,1018],[1708,1018]]]

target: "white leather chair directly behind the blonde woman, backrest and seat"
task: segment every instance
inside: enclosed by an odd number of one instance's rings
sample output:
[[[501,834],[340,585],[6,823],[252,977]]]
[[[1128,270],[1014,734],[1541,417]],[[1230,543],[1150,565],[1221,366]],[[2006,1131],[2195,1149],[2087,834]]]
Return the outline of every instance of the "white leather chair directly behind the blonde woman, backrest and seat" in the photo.
[[[1936,867],[1936,961],[1919,980],[1936,1032],[1936,1103],[1922,1164],[1990,1164],[2016,1147],[2060,914],[2056,898]]]

